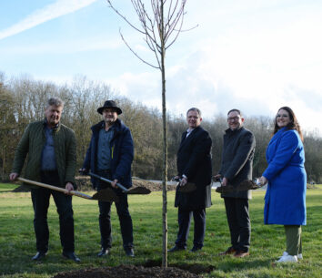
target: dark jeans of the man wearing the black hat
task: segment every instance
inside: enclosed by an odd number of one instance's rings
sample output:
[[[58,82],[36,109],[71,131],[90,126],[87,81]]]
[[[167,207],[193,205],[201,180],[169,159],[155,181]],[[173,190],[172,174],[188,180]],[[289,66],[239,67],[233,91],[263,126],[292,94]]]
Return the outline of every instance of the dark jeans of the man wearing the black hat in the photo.
[[[111,180],[111,173],[108,171],[98,171],[97,174]],[[102,190],[107,187],[109,187],[108,183],[100,180],[97,190]],[[127,195],[120,190],[116,190],[116,194],[119,199],[116,202],[116,211],[120,221],[123,247],[133,247],[133,225],[130,212],[128,211]],[[98,201],[102,248],[112,247],[111,205],[112,203],[108,201]]]

